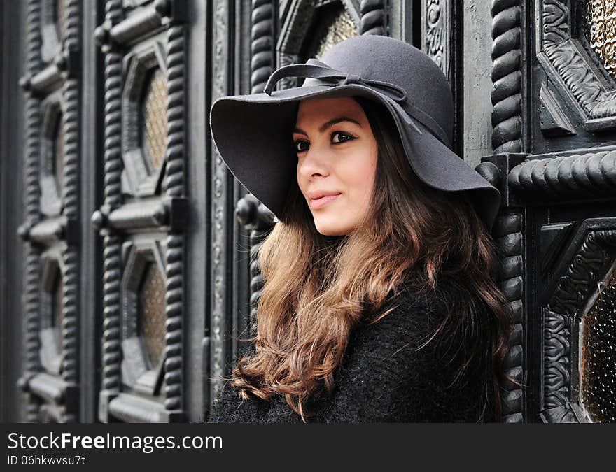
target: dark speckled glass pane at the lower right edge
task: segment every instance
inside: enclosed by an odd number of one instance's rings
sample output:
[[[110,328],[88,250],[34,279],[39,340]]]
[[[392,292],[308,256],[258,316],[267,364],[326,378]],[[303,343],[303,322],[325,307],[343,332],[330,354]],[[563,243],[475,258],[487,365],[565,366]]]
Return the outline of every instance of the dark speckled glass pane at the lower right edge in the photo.
[[[591,420],[616,422],[616,276],[582,320],[582,404]]]

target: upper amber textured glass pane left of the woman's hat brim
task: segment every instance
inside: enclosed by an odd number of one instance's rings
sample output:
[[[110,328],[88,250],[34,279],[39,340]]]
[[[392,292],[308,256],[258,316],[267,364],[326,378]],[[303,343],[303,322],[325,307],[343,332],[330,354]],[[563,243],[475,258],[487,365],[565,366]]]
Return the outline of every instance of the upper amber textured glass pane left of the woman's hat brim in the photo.
[[[143,149],[148,171],[155,173],[165,159],[167,142],[167,81],[160,69],[156,69],[148,80],[143,117]]]

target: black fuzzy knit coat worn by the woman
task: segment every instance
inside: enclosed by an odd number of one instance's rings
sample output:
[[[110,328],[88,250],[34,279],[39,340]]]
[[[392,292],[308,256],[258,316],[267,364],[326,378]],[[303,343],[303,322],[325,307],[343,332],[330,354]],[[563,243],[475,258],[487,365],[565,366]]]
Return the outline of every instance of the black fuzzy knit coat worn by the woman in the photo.
[[[486,369],[488,355],[479,355],[458,376],[468,352],[489,352],[488,315],[460,329],[447,324],[422,350],[416,351],[443,320],[468,297],[458,284],[443,279],[440,289],[417,295],[407,290],[391,301],[398,308],[375,324],[361,324],[351,334],[349,349],[336,372],[332,394],[309,405],[309,422],[491,422],[495,421],[493,389]],[[254,349],[248,345],[248,350]],[[457,377],[457,378],[456,378]],[[283,396],[269,401],[242,400],[230,382],[211,413],[210,422],[301,422]]]

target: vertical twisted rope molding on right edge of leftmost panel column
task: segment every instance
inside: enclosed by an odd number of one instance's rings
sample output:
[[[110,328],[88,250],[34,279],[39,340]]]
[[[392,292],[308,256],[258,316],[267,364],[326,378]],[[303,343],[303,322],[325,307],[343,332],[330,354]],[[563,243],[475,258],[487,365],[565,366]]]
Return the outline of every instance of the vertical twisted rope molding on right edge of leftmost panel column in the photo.
[[[68,52],[80,50],[81,2],[69,0],[66,4],[65,48]],[[74,71],[71,71],[71,74]],[[67,220],[79,218],[79,108],[80,80],[67,78],[64,81],[64,185],[62,199]],[[71,386],[78,384],[79,369],[79,317],[78,317],[78,250],[68,243],[62,253],[64,263],[64,294],[62,300],[62,379]],[[63,420],[74,422],[76,412],[66,412]]]

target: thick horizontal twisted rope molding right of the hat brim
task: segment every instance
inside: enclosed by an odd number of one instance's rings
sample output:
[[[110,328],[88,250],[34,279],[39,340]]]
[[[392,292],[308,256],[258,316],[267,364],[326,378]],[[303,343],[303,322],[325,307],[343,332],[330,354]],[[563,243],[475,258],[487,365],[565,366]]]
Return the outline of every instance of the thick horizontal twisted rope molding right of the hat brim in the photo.
[[[525,196],[611,196],[616,189],[616,150],[526,161],[515,166],[507,180]]]

